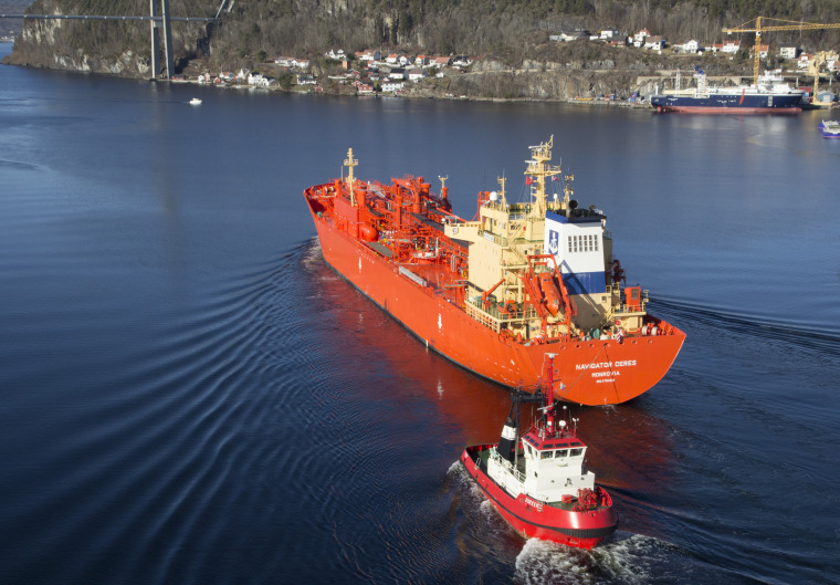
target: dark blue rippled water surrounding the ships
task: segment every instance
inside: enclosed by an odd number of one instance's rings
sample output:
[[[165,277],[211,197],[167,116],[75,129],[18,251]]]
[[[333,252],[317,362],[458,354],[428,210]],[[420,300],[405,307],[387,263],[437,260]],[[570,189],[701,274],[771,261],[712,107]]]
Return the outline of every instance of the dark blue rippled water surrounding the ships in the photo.
[[[820,117],[0,67],[0,583],[840,582]],[[325,267],[301,195],[351,146],[363,178],[449,176],[472,217],[552,134],[628,282],[689,334],[653,390],[578,412],[622,520],[592,552],[482,502],[455,461],[497,439],[505,391]]]

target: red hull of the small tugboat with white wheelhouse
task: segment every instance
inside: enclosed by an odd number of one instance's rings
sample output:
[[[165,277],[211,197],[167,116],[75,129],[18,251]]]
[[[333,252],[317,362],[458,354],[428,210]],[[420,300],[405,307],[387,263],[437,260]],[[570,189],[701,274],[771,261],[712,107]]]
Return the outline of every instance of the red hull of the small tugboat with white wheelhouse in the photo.
[[[618,527],[618,514],[612,509],[612,500],[601,489],[601,505],[586,511],[576,511],[571,506],[568,510],[555,508],[525,494],[512,498],[476,466],[477,453],[493,447],[495,445],[468,447],[461,453],[461,463],[484,497],[521,536],[589,550]]]

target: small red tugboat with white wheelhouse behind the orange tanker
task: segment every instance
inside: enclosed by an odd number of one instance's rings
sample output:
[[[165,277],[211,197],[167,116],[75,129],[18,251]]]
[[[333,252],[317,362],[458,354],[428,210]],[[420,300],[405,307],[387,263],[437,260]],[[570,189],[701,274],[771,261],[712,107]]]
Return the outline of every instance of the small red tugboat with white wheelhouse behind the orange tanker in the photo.
[[[461,463],[502,518],[524,537],[592,549],[618,526],[609,493],[584,467],[587,447],[557,412],[553,358],[547,393],[514,389],[511,411],[497,445],[464,449]],[[563,384],[560,384],[560,388]],[[542,420],[519,438],[523,403],[543,403]]]

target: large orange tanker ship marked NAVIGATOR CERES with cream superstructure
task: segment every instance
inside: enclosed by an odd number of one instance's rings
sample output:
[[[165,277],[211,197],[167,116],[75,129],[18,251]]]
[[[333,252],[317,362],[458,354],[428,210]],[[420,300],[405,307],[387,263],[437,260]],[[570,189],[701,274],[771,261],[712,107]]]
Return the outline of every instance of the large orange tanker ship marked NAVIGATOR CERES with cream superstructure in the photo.
[[[427,347],[462,367],[529,391],[556,354],[558,398],[619,404],[669,370],[685,334],[627,286],[606,216],[571,199],[574,176],[550,164],[553,138],[532,146],[531,200],[480,191],[472,221],[452,213],[422,177],[390,184],[346,176],[304,190],[324,260]],[[552,200],[547,185],[559,182]],[[560,189],[558,189],[560,190]]]

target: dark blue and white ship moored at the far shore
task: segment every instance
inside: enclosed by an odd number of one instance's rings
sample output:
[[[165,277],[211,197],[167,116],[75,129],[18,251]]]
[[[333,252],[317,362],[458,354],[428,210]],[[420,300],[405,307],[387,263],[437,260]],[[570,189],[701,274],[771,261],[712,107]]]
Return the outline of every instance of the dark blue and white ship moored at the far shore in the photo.
[[[796,114],[802,111],[806,92],[790,87],[773,73],[759,76],[755,84],[734,87],[708,86],[702,70],[696,70],[694,79],[696,87],[652,95],[651,105],[659,112],[694,114]]]

